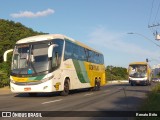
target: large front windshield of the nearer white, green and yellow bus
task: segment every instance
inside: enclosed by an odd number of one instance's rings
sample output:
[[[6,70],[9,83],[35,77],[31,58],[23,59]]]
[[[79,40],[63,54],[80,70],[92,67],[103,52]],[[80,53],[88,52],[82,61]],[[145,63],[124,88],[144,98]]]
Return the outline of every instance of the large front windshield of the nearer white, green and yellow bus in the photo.
[[[48,69],[48,43],[15,46],[11,68],[13,74],[37,74]]]

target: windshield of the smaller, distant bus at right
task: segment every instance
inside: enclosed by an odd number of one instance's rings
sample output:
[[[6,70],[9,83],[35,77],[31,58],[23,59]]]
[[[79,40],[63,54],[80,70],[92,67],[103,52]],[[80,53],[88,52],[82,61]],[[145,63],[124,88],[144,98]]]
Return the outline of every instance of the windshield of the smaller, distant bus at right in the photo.
[[[147,77],[147,66],[146,65],[130,65],[129,76],[134,78]]]

